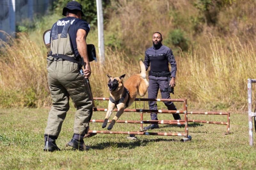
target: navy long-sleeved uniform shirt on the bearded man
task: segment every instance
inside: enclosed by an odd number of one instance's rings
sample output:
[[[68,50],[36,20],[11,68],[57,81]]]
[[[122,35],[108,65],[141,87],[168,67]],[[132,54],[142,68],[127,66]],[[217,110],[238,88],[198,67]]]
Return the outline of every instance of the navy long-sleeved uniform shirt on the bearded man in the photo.
[[[172,68],[171,77],[175,78],[177,64],[170,48],[161,44],[160,48],[152,46],[145,51],[144,65],[146,70],[148,70],[150,64],[150,70],[153,72],[167,72],[170,71],[169,63]]]

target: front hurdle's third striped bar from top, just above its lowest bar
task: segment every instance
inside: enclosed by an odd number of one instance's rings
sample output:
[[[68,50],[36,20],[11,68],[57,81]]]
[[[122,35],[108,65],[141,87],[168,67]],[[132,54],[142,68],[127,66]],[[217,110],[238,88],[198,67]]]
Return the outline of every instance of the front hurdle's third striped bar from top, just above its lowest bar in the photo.
[[[90,122],[101,122],[103,123],[104,120],[91,120]],[[111,120],[108,120],[109,123],[111,123]],[[143,123],[143,124],[185,124],[185,121],[183,120],[183,122],[177,122],[177,121],[172,121],[172,120],[157,120],[157,121],[154,121],[154,120],[147,120],[147,121],[130,121],[130,120],[127,120],[127,121],[121,121],[121,120],[118,120],[116,121],[116,123]]]

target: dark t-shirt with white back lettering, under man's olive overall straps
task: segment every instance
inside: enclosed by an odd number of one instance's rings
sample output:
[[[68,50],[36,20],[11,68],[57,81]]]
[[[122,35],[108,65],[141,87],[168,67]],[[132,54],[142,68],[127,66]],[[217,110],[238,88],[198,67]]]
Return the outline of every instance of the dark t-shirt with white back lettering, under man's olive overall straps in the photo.
[[[58,26],[58,34],[60,34],[62,32],[62,29],[66,25],[66,23],[71,22],[73,19],[75,19],[75,17],[67,17],[67,18],[59,19],[56,22],[57,26]],[[53,24],[53,26],[54,26],[54,24]],[[77,45],[76,45],[76,33],[77,33],[78,29],[84,29],[86,31],[86,36],[87,36],[90,31],[90,25],[87,22],[85,22],[84,20],[76,18],[76,20],[74,21],[74,24],[71,23],[71,25],[68,29],[68,35],[69,35],[69,38],[71,41],[71,47],[76,56],[79,55],[78,50],[77,50]],[[50,36],[52,37],[52,33]]]

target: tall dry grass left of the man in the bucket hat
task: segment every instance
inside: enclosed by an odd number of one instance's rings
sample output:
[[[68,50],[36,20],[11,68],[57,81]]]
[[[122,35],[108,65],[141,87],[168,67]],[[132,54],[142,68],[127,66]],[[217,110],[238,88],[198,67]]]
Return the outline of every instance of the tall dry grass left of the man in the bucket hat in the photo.
[[[0,107],[49,106],[45,55],[27,34],[8,37],[0,41]]]

